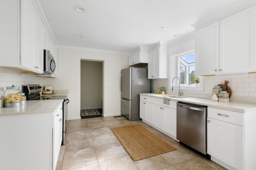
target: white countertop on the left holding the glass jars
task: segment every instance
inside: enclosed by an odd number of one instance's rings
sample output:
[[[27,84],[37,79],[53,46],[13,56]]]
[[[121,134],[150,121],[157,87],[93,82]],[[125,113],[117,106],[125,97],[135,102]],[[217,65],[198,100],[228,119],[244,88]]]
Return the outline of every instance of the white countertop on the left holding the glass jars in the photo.
[[[63,100],[29,100],[20,107],[0,108],[0,116],[54,113]]]

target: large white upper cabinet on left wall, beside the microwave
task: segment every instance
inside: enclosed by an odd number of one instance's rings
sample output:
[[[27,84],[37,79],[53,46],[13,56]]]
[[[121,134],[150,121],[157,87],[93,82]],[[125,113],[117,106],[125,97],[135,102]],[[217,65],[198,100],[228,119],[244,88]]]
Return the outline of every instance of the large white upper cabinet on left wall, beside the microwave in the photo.
[[[45,40],[42,18],[32,0],[1,1],[0,11],[0,66],[19,70],[23,73],[42,74],[44,72]],[[6,17],[8,16],[8,17]],[[56,47],[46,43],[54,54]]]

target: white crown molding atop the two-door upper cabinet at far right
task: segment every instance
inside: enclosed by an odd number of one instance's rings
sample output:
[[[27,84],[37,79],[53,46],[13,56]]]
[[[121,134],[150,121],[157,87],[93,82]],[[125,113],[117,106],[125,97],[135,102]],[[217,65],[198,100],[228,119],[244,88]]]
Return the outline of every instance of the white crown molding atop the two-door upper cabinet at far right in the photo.
[[[196,30],[200,29],[202,27],[210,25],[211,23],[226,18],[227,16],[230,16],[236,12],[244,10],[245,8],[253,6],[254,4],[256,4],[256,0],[238,0],[233,4],[230,4],[229,6],[226,6],[225,8],[218,10],[210,16],[207,16],[206,18],[199,20],[196,23],[193,23],[190,26],[194,27]]]

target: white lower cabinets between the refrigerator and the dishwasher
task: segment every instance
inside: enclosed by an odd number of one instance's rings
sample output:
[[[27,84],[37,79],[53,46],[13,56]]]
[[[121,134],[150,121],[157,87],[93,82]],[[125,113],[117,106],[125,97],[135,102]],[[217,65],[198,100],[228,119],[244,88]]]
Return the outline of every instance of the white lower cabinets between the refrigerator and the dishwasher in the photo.
[[[169,104],[166,105],[163,104],[163,99],[140,95],[140,118],[176,139],[176,103],[169,101]]]

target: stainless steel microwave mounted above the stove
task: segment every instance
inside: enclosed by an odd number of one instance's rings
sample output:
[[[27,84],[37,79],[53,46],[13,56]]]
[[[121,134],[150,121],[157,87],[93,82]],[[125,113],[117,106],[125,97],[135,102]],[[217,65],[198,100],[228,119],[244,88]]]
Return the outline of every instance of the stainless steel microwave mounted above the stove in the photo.
[[[44,74],[54,74],[56,63],[49,50],[44,50]]]

